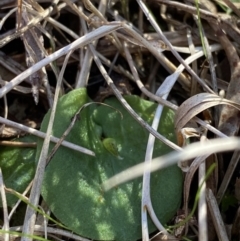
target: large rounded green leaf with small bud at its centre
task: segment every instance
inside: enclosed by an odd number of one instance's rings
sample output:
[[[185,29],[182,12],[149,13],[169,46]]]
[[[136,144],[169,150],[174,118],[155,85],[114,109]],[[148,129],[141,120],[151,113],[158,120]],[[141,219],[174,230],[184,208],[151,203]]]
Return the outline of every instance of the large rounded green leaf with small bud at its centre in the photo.
[[[58,102],[53,135],[60,137],[76,111],[89,101],[85,89],[63,96]],[[126,101],[143,119],[151,122],[156,104],[137,96],[127,96]],[[142,179],[106,193],[101,184],[144,160],[149,133],[116,98],[107,99],[105,103],[114,109],[89,105],[80,113],[67,137],[68,141],[93,150],[96,156],[61,147],[46,169],[42,195],[54,215],[74,232],[94,240],[132,241],[141,237]],[[174,113],[165,109],[159,130],[175,141],[173,117]],[[49,113],[42,123],[42,131],[46,130],[48,120]],[[40,149],[41,145],[38,155]],[[156,141],[155,157],[169,151],[166,145]],[[181,192],[182,174],[177,166],[152,174],[151,198],[162,223],[175,214],[181,202]],[[154,229],[150,223],[150,230]]]

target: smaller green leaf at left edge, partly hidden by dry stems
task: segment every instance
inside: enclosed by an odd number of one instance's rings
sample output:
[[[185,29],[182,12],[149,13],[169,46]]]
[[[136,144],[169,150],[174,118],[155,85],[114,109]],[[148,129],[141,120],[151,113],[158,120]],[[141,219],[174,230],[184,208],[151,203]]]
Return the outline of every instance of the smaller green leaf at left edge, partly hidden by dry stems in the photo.
[[[25,136],[16,139],[16,141],[36,142],[36,138],[34,136]],[[20,193],[27,188],[35,173],[35,155],[35,148],[1,146],[0,167],[6,187]],[[17,200],[17,197],[7,194],[8,206],[14,206]],[[1,199],[0,206],[2,206]]]

